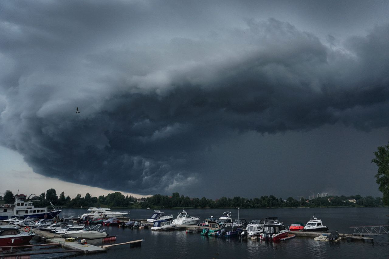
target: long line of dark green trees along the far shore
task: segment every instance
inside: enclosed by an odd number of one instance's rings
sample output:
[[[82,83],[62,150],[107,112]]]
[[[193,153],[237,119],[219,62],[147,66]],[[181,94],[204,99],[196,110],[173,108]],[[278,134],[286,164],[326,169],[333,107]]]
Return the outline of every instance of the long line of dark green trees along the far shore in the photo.
[[[13,203],[14,195],[7,191],[4,195],[5,203]],[[109,193],[107,196],[100,195],[92,197],[86,193],[84,197],[79,193],[75,198],[65,197],[61,192],[59,197],[56,190],[51,188],[38,197],[33,199],[35,207],[54,206],[80,208],[80,207],[135,207],[135,208],[284,208],[284,207],[379,207],[384,206],[381,197],[361,197],[361,195],[352,196],[329,196],[317,197],[313,200],[301,198],[296,200],[293,197],[287,199],[277,198],[274,195],[261,196],[260,198],[247,199],[243,197],[221,197],[212,200],[205,197],[189,198],[188,196],[179,195],[178,192],[172,195],[155,194],[151,197],[135,199],[133,196],[124,196],[121,192]]]

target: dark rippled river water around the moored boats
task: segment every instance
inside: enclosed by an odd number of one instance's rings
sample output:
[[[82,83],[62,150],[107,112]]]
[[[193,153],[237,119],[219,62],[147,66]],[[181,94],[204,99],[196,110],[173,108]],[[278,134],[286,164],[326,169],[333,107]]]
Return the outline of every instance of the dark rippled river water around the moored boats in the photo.
[[[165,209],[165,214],[177,217],[179,209]],[[238,218],[237,209],[188,209],[192,216],[200,216],[201,222],[211,215],[218,218],[224,211],[231,211]],[[85,209],[64,209],[62,217],[78,216]],[[339,233],[350,233],[350,226],[389,225],[388,208],[296,208],[296,209],[240,209],[239,218],[247,222],[270,216],[279,217],[285,225],[298,221],[307,223],[313,215],[321,218],[324,226]],[[152,210],[133,209],[131,219],[146,219]],[[107,253],[93,255],[51,254],[31,258],[389,258],[389,236],[371,236],[374,243],[315,241],[313,238],[296,237],[281,242],[262,242],[233,238],[203,237],[199,233],[185,231],[151,231],[150,229],[128,229],[110,226],[107,231],[116,235],[116,243],[144,239],[141,247],[118,246]],[[91,244],[99,245],[101,241]],[[48,250],[48,249],[46,249]],[[48,250],[49,251],[49,250]]]

